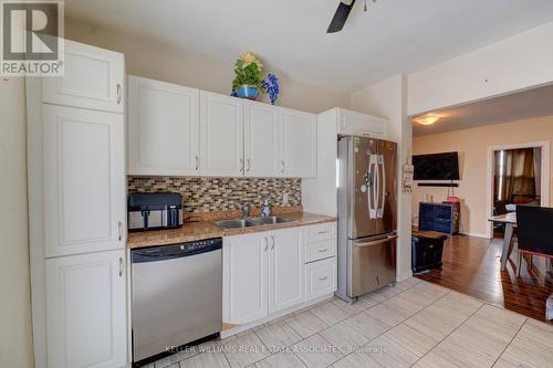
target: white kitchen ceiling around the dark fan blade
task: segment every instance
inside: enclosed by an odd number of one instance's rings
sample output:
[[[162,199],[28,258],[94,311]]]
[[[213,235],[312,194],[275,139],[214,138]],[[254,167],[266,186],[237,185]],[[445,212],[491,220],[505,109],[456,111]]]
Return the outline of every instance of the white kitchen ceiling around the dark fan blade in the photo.
[[[66,15],[229,62],[244,51],[301,82],[352,92],[553,21],[552,0],[65,0]]]

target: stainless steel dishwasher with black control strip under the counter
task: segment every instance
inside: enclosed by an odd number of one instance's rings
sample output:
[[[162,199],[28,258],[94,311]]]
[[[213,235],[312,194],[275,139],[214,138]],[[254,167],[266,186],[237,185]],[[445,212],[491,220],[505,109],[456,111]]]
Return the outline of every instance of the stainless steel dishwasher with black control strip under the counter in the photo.
[[[222,240],[132,251],[133,361],[222,326]]]

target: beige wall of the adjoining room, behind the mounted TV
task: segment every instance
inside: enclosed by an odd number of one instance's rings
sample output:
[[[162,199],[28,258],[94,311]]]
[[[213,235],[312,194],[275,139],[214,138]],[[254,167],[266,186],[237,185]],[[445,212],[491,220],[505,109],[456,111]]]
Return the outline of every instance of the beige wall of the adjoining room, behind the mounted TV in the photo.
[[[465,233],[484,235],[487,225],[487,156],[488,147],[553,140],[553,116],[528,120],[488,125],[478,128],[414,137],[413,154],[434,154],[457,150],[460,153],[461,180],[456,196],[462,200],[461,223]],[[553,166],[553,159],[551,159]],[[553,172],[553,167],[551,168]],[[418,213],[418,202],[424,194],[435,201],[446,199],[447,188],[415,187],[413,214]],[[550,185],[550,204],[553,187]],[[416,222],[416,219],[414,219]]]

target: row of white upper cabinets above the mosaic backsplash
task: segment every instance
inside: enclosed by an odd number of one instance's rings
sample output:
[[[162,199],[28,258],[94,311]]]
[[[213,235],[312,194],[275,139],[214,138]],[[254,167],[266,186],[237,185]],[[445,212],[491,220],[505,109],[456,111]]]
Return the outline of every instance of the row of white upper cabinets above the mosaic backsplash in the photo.
[[[128,175],[316,176],[316,116],[128,76]]]

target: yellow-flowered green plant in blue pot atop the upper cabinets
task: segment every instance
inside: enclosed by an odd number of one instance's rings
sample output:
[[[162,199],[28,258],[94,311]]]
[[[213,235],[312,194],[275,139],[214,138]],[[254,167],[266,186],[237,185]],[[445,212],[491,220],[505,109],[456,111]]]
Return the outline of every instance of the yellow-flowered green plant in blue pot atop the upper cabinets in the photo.
[[[251,52],[244,53],[234,64],[232,93],[241,98],[257,99],[261,91],[263,64]]]

